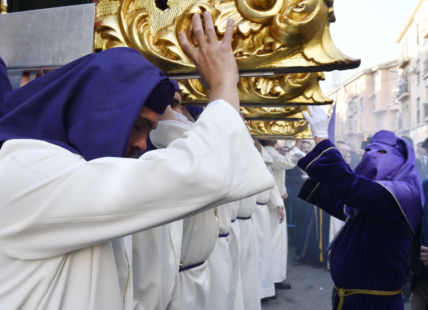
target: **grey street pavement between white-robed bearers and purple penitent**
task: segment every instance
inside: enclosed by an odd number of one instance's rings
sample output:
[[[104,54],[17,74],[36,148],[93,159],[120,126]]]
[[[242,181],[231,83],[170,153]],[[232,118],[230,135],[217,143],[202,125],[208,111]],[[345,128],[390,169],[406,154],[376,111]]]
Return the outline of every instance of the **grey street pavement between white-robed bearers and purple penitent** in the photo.
[[[327,268],[312,268],[291,260],[294,247],[288,247],[287,279],[291,289],[277,289],[276,299],[262,302],[262,310],[331,310],[333,281]],[[366,310],[366,309],[362,309]],[[411,310],[410,303],[404,310]]]

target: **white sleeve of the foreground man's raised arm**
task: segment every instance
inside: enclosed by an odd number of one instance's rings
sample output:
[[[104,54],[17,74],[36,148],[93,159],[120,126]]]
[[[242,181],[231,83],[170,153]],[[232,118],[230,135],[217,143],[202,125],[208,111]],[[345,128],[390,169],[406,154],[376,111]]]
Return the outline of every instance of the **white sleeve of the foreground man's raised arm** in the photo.
[[[274,186],[223,100],[210,103],[183,138],[140,159],[86,162],[48,142],[9,140],[0,171],[0,248],[19,259],[97,245]]]

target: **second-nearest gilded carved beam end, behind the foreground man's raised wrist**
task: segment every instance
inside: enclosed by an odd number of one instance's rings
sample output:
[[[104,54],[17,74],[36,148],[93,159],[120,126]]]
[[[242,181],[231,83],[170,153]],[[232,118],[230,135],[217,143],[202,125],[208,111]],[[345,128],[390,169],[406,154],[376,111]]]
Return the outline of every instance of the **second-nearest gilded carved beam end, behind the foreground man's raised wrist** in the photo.
[[[282,74],[273,77],[241,77],[238,94],[241,106],[289,106],[330,104],[333,100],[321,92],[323,72]],[[203,105],[209,91],[198,80],[178,80],[183,103]]]

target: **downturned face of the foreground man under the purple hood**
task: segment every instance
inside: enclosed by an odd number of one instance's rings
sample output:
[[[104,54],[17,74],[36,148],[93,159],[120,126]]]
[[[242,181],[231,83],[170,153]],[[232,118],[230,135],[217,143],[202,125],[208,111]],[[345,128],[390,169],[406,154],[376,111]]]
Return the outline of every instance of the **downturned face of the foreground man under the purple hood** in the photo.
[[[125,157],[132,157],[134,152],[146,151],[146,139],[149,133],[158,126],[159,113],[155,110],[143,106],[137,119],[132,126],[129,138],[128,152]]]

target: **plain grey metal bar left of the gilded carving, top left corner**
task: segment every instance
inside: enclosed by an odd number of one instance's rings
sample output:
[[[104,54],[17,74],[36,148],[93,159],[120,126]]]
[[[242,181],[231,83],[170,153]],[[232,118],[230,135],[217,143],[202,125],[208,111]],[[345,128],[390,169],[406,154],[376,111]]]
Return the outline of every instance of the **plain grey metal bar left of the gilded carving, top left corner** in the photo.
[[[95,3],[0,15],[0,56],[9,75],[92,53],[94,21]]]

